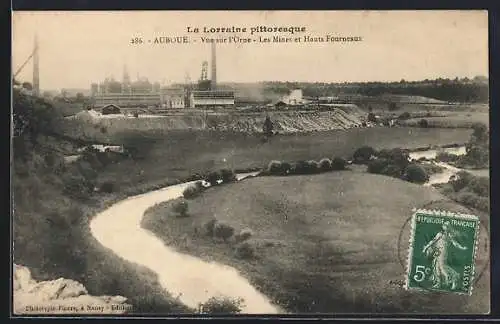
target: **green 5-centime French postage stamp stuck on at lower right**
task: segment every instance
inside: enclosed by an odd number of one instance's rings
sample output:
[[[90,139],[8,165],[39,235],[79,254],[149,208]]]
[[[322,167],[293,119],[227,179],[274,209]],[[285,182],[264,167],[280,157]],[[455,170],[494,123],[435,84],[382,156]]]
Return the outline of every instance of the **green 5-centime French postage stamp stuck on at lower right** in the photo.
[[[479,218],[417,210],[412,219],[406,289],[472,294]]]

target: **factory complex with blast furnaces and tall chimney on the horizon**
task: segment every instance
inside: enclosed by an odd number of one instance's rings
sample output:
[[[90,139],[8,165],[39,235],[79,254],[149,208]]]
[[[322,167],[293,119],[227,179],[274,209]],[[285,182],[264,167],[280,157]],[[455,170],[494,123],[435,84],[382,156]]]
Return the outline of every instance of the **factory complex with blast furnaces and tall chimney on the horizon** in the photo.
[[[121,82],[106,78],[92,83],[91,102],[95,108],[116,105],[122,108],[143,107],[165,109],[224,108],[234,106],[234,91],[217,88],[217,57],[215,43],[211,50],[211,75],[208,79],[208,62],[204,61],[201,76],[196,86],[189,80],[183,86],[162,87],[159,82],[151,83],[147,78],[137,76],[131,81],[126,66]]]

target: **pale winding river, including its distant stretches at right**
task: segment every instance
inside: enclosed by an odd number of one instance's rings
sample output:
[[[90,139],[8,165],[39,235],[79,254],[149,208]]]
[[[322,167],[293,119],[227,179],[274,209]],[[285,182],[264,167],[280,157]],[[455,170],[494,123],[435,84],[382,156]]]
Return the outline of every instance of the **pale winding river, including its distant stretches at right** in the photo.
[[[454,154],[465,154],[465,148],[445,149]],[[433,159],[437,151],[413,152],[410,158]],[[447,182],[459,169],[445,163],[443,173],[431,176],[425,185]],[[238,174],[238,180],[256,173]],[[141,227],[146,209],[161,202],[182,196],[184,189],[195,181],[169,186],[122,200],[93,218],[90,228],[93,236],[120,257],[146,266],[158,275],[162,287],[181,302],[197,308],[213,296],[244,299],[243,313],[276,314],[283,311],[257,291],[234,268],[179,253],[166,246],[151,232]]]

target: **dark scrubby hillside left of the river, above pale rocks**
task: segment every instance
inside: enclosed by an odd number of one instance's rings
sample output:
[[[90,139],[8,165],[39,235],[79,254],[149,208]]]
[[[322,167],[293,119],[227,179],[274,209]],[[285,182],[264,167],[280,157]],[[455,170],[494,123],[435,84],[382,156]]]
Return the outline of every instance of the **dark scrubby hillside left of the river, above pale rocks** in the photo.
[[[186,312],[154,273],[120,259],[92,237],[90,218],[123,198],[123,192],[94,191],[103,166],[85,159],[65,164],[64,155],[77,146],[46,136],[60,128],[54,107],[17,91],[13,102],[13,261],[28,267],[33,280],[49,285],[61,277],[74,280],[93,296],[124,296],[138,312]]]

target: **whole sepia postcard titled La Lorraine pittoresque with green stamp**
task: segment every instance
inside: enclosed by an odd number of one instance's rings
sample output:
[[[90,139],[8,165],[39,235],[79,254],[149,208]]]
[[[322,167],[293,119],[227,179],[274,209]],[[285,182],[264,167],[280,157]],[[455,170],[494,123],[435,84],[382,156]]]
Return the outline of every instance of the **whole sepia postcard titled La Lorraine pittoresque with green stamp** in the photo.
[[[486,11],[12,24],[13,315],[490,312]]]

